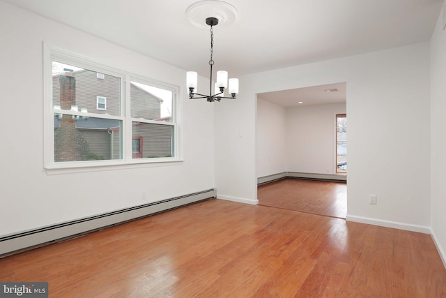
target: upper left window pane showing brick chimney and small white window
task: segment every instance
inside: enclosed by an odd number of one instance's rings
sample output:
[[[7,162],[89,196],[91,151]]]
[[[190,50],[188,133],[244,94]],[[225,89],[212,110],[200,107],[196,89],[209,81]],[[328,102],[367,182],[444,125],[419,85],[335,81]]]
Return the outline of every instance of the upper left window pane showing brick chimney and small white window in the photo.
[[[121,116],[121,78],[53,61],[53,107]],[[98,96],[107,98],[99,102]]]

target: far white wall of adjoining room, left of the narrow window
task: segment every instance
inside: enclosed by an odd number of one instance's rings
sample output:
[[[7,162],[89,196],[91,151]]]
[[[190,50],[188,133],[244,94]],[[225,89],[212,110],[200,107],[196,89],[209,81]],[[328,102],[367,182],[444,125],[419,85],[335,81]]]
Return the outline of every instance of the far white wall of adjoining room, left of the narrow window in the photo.
[[[336,173],[336,114],[345,113],[345,103],[286,108],[288,172]]]

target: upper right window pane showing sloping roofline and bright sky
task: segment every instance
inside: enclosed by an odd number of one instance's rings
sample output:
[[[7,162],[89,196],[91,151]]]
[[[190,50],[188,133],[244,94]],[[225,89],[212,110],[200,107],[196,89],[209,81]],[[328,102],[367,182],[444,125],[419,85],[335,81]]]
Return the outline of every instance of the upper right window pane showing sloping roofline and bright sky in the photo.
[[[130,82],[130,114],[134,118],[172,121],[172,91]]]

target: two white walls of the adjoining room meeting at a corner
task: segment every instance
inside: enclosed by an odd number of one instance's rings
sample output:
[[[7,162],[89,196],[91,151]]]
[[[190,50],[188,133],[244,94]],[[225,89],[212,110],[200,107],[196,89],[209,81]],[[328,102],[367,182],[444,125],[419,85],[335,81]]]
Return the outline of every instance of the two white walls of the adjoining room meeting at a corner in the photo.
[[[257,99],[257,177],[282,172],[335,174],[336,114],[346,104],[281,107]]]

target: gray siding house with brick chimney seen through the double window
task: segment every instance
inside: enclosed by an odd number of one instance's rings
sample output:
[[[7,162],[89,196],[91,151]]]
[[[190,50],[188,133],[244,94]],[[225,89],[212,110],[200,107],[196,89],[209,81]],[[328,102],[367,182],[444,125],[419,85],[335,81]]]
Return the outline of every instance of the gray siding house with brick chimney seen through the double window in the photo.
[[[67,80],[70,83],[63,83]],[[65,80],[65,81],[64,81]],[[68,84],[68,87],[66,85]],[[163,100],[135,84],[130,84],[131,116],[134,118],[170,121],[160,118]],[[67,101],[68,98],[68,101]],[[79,70],[53,76],[53,105],[63,110],[98,114],[98,117],[54,116],[55,161],[86,161],[122,158],[121,121],[101,118],[103,114],[121,115],[121,79],[112,75]],[[72,128],[69,128],[72,126]],[[132,123],[133,158],[171,156],[171,126]],[[75,149],[73,149],[75,148]],[[70,153],[70,151],[75,151]]]

